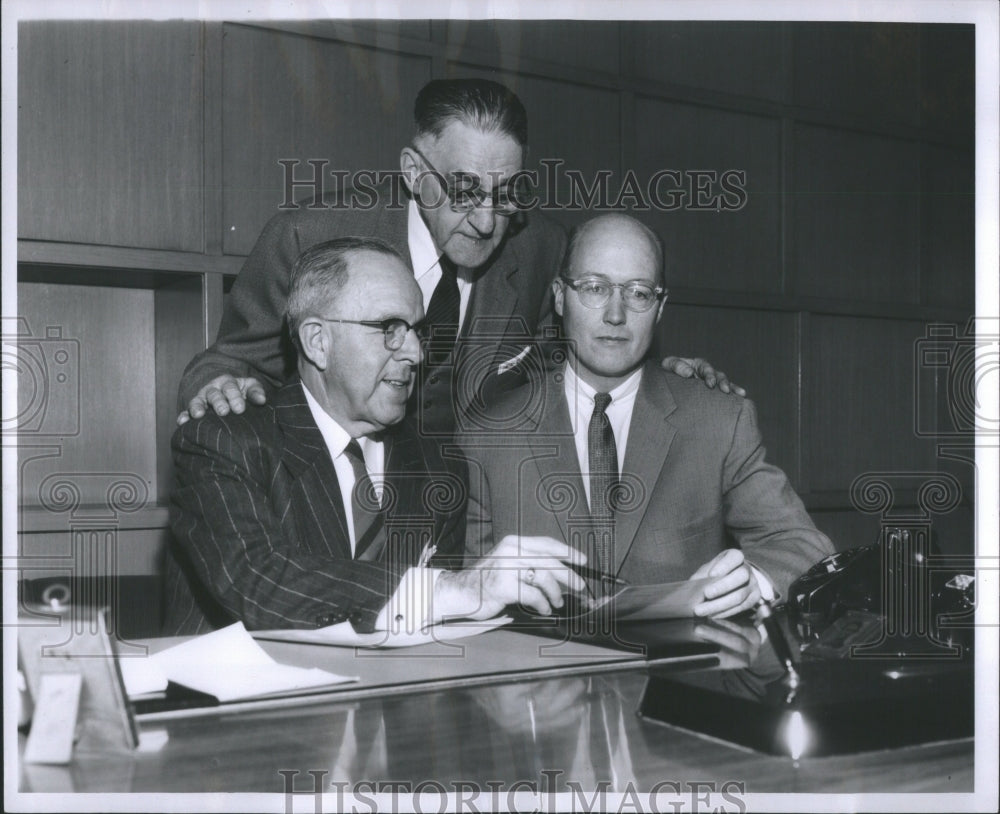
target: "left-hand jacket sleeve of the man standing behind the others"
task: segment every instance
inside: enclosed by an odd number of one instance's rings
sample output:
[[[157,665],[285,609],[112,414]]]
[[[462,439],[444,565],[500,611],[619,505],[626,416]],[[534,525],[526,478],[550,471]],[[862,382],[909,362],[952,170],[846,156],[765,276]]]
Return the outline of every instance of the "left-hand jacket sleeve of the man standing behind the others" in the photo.
[[[272,388],[287,378],[290,347],[282,334],[289,275],[300,252],[296,222],[295,213],[280,212],[264,227],[226,296],[218,338],[184,371],[179,409],[224,373],[254,376]]]

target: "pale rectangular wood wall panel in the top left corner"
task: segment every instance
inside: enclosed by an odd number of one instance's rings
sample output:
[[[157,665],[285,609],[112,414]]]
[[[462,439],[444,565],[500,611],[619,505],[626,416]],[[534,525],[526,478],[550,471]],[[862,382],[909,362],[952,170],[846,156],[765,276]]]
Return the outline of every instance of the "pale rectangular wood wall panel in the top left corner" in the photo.
[[[204,250],[202,28],[18,26],[18,237]]]

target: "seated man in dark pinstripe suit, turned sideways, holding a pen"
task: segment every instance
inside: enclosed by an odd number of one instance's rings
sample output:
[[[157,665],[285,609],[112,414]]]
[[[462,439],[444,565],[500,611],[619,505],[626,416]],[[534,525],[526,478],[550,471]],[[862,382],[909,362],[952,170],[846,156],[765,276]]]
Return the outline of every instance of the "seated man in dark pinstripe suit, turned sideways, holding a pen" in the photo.
[[[548,612],[583,582],[549,538],[511,536],[464,570],[466,472],[405,420],[420,289],[396,249],[331,240],[291,274],[298,376],[267,405],[209,415],[173,439],[169,634],[349,620],[413,630]]]

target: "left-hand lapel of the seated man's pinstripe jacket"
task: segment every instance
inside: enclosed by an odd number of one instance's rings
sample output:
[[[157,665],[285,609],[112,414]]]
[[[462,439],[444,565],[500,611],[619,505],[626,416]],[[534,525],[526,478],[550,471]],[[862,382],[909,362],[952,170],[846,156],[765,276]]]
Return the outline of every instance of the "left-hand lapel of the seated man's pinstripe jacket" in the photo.
[[[331,553],[351,559],[347,517],[337,473],[302,392],[302,382],[296,379],[282,387],[272,403],[275,421],[284,438],[282,463],[312,509],[309,533],[318,534]]]

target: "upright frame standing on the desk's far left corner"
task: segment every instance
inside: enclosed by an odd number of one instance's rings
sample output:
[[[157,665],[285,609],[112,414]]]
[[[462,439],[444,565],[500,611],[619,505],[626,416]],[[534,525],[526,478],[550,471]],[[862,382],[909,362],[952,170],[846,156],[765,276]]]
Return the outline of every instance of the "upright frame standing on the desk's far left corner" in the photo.
[[[68,739],[74,754],[130,752],[138,745],[135,716],[105,614],[104,608],[56,605],[28,607],[18,617],[18,664],[34,707],[29,744],[39,737],[39,728],[52,726],[52,734],[63,742]],[[60,716],[61,710],[46,709],[54,706],[47,700],[50,687],[73,683],[67,676],[79,676],[79,707],[72,720]],[[72,733],[64,731],[69,726]]]

